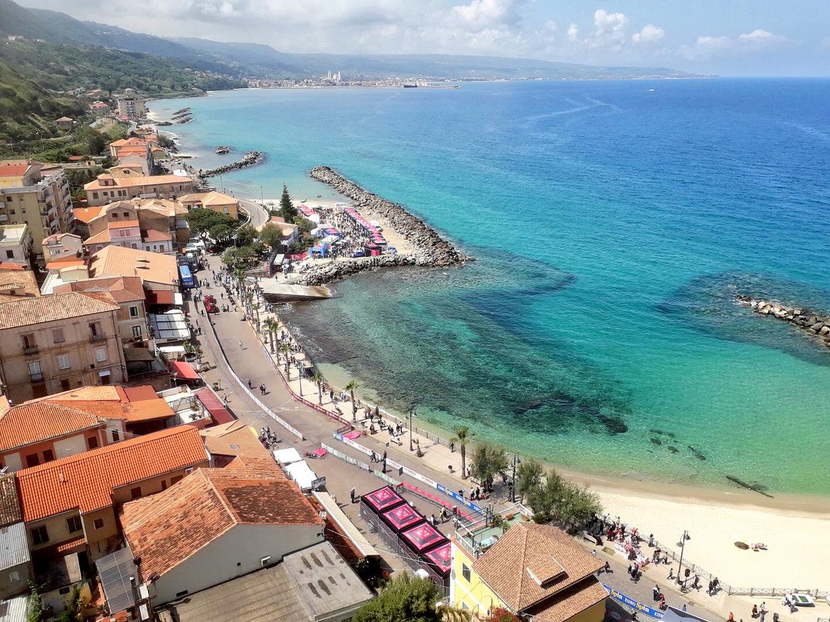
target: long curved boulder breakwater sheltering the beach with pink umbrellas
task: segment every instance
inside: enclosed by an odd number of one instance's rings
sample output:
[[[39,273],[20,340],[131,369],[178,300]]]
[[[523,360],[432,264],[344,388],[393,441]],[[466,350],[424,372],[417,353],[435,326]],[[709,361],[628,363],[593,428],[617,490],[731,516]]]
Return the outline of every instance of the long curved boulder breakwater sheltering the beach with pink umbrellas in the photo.
[[[413,255],[407,256],[414,260],[414,265],[447,267],[463,265],[466,261],[473,260],[472,257],[464,255],[461,250],[444,240],[431,226],[428,226],[417,216],[410,214],[398,203],[378,197],[378,195],[359,187],[356,183],[339,175],[339,173],[334,173],[331,168],[315,167],[311,169],[310,175],[320,182],[329,184],[345,197],[349,197],[354,207],[370,220],[382,218],[387,221],[399,235],[417,248]],[[382,255],[382,259],[385,260],[387,256]],[[391,258],[394,256],[389,255]],[[409,263],[408,259],[407,263]]]

